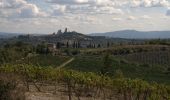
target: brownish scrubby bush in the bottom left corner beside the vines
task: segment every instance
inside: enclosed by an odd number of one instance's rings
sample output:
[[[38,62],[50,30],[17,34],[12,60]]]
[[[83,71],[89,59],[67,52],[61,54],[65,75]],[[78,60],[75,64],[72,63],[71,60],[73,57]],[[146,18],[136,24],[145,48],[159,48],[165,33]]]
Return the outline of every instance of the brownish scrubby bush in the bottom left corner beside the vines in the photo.
[[[0,100],[24,100],[25,88],[17,85],[17,76],[0,73]]]

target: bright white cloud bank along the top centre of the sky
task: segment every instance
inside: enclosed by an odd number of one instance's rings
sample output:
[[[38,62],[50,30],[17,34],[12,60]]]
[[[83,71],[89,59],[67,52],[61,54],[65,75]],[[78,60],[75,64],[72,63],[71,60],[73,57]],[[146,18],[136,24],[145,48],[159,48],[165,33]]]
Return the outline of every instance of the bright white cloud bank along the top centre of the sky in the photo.
[[[114,7],[112,0],[47,0],[52,6],[62,9],[53,9],[54,12],[86,13],[86,14],[123,14],[123,11]],[[62,10],[62,11],[61,11]]]

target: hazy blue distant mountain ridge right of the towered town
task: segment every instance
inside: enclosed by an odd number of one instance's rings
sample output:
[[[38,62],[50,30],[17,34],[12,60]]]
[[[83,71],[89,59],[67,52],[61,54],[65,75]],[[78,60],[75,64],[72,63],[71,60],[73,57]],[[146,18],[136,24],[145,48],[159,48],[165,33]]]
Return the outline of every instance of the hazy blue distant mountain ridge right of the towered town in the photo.
[[[92,33],[90,36],[106,36],[113,38],[126,38],[126,39],[156,39],[170,38],[170,31],[136,31],[136,30],[122,30],[106,33]]]

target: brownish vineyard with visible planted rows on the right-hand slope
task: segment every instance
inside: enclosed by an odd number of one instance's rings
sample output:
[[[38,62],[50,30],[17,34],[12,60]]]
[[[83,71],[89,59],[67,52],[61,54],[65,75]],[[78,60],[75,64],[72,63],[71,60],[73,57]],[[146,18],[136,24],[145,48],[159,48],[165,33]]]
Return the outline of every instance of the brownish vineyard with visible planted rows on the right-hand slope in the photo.
[[[145,63],[145,64],[159,64],[164,66],[170,65],[169,51],[153,51],[143,53],[133,53],[121,56],[131,62]]]

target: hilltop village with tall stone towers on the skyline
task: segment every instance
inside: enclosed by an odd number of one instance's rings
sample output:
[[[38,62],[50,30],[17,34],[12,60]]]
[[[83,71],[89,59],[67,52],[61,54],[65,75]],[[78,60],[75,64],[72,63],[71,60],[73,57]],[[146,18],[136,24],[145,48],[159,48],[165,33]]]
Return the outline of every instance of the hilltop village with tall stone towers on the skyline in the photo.
[[[19,35],[18,40],[28,43],[34,43],[38,45],[46,43],[49,48],[104,48],[113,45],[112,38],[106,38],[104,36],[88,36],[76,31],[68,31],[65,28],[64,32],[58,30],[49,35]]]

